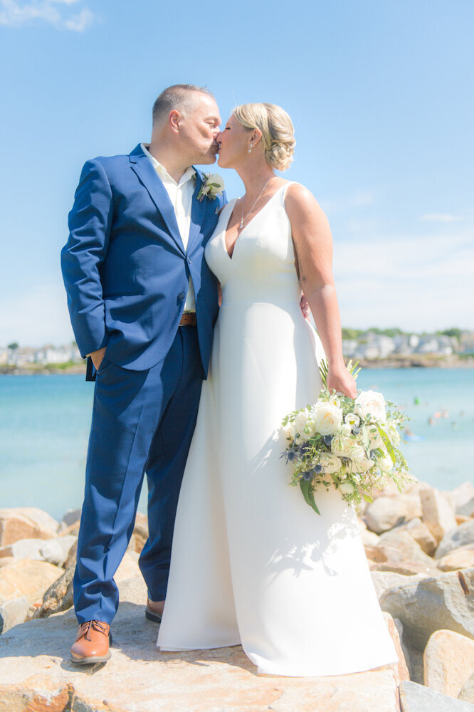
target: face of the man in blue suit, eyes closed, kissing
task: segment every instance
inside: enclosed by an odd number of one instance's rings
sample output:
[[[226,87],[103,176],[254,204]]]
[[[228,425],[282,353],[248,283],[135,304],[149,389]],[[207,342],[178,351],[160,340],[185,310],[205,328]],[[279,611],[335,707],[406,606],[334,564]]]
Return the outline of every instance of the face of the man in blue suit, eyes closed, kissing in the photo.
[[[179,133],[189,149],[190,163],[214,163],[221,117],[218,105],[207,94],[196,92],[193,103],[181,112]]]

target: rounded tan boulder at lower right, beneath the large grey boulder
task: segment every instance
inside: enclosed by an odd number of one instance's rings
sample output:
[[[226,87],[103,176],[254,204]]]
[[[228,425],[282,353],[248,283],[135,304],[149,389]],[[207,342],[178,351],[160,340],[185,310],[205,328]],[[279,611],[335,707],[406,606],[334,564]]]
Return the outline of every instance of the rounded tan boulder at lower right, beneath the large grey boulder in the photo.
[[[437,630],[423,653],[427,687],[457,698],[474,671],[474,640],[452,630]]]

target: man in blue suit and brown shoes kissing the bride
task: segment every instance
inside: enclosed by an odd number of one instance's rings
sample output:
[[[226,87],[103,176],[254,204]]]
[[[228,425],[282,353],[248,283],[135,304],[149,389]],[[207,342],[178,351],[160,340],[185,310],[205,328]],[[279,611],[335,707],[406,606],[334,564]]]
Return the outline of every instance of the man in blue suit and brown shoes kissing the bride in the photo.
[[[214,163],[220,124],[209,90],[169,87],[154,103],[150,145],[88,161],[75,192],[61,263],[75,338],[96,372],[74,577],[75,664],[110,657],[113,577],[145,472],[149,538],[139,567],[147,617],[161,619],[218,312],[204,247],[225,198],[206,191],[192,164]]]

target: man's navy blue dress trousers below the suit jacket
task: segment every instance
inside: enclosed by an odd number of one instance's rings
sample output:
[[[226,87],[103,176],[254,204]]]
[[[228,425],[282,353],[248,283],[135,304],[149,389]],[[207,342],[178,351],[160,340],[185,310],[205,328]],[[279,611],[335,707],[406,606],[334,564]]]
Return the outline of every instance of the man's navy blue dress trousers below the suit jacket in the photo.
[[[113,577],[132,535],[144,473],[149,539],[139,567],[149,597],[167,592],[179,488],[196,425],[202,370],[196,327],[179,327],[161,364],[131,371],[102,361],[95,381],[85,498],[74,576],[78,622],[117,612]]]

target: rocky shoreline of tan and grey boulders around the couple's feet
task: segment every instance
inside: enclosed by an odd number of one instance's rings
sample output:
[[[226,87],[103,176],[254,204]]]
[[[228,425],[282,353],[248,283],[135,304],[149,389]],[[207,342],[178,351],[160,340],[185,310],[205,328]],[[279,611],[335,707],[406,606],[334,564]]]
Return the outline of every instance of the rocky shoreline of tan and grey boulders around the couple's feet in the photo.
[[[240,646],[157,651],[157,628],[144,620],[146,590],[137,564],[147,539],[141,514],[115,577],[118,649],[106,666],[74,669],[68,650],[79,516],[68,511],[57,522],[36,508],[0,509],[0,712],[474,712],[470,483],[449,492],[423,482],[404,493],[386,488],[364,505],[362,542],[400,661],[338,678],[257,676]],[[138,683],[142,675],[146,680]],[[213,684],[226,686],[225,704],[214,698]]]

